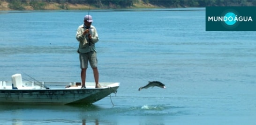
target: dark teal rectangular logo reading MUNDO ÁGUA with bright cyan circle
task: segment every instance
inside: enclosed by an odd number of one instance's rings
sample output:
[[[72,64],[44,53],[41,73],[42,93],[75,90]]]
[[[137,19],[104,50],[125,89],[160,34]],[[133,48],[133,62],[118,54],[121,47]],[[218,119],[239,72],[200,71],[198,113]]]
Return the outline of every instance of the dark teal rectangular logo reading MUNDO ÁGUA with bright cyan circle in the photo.
[[[206,31],[256,31],[256,7],[206,7]]]

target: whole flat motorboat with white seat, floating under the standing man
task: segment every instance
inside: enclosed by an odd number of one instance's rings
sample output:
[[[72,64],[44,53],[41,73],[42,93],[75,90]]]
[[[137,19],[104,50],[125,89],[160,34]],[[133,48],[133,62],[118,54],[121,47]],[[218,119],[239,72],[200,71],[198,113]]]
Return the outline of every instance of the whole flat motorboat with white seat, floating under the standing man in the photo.
[[[0,81],[0,104],[92,104],[111,93],[116,93],[120,83],[101,82],[39,82],[23,81],[21,74],[12,75],[11,81]]]

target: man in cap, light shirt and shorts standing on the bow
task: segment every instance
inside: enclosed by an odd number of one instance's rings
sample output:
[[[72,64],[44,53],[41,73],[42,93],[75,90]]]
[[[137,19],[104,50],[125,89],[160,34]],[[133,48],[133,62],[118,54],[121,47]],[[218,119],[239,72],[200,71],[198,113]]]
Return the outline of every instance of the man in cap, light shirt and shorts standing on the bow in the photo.
[[[80,67],[81,67],[81,80],[82,87],[85,89],[85,78],[86,69],[88,68],[88,61],[90,62],[90,67],[93,70],[94,80],[96,83],[95,88],[100,88],[98,84],[98,68],[97,68],[97,51],[95,48],[95,43],[98,42],[98,33],[96,28],[91,25],[93,22],[90,15],[85,15],[83,18],[83,24],[77,28],[75,38],[79,42],[79,48],[77,52],[79,53]]]

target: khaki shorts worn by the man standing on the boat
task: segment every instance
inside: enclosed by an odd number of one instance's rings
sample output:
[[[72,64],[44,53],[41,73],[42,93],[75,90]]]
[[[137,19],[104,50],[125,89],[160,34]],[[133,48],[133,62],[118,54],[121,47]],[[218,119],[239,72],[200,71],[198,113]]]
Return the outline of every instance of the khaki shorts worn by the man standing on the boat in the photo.
[[[88,68],[88,61],[90,62],[91,68],[97,67],[97,53],[95,51],[90,51],[88,53],[79,53],[80,59],[80,68],[85,69]]]

